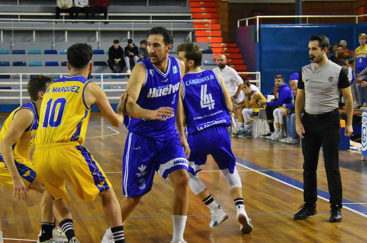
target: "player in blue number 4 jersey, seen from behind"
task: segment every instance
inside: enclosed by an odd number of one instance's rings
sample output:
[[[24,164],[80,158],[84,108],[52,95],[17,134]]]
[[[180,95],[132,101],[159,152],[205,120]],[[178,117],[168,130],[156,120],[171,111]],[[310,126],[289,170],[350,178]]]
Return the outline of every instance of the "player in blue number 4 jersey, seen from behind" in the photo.
[[[235,168],[236,160],[232,153],[231,140],[226,127],[231,125],[229,112],[232,101],[219,73],[200,69],[202,53],[194,43],[183,43],[177,47],[178,58],[185,63],[185,76],[182,80],[182,98],[188,130],[187,141],[191,150],[189,157],[190,188],[211,209],[214,228],[228,218],[200,180],[197,173],[202,170],[208,155],[212,155],[219,169],[226,177],[228,187],[237,209],[237,220],[242,233],[253,229],[248,218],[242,196],[241,178]],[[183,125],[178,127],[182,134]],[[185,137],[181,136],[181,141]],[[208,141],[215,140],[215,143]],[[184,142],[182,142],[184,144]]]

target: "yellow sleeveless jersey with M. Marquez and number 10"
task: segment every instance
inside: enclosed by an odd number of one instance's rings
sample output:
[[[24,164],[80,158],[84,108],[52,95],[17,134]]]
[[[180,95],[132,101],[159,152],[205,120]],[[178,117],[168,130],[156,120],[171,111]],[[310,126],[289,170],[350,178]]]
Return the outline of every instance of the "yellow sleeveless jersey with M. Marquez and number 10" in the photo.
[[[39,112],[36,146],[68,141],[84,143],[90,108],[84,89],[90,81],[80,75],[55,80],[45,92]]]

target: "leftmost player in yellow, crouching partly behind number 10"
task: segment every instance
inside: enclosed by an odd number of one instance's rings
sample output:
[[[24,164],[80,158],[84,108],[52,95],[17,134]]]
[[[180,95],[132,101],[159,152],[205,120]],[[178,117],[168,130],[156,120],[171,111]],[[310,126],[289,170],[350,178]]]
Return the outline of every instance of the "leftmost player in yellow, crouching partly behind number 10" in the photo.
[[[54,242],[49,239],[66,238],[54,225],[52,198],[39,183],[30,160],[35,132],[38,127],[38,111],[42,98],[52,79],[45,76],[31,78],[27,90],[31,102],[23,104],[10,113],[0,131],[0,183],[14,190],[14,197],[27,198],[28,190],[42,193],[41,198],[41,234],[39,242]],[[62,236],[63,235],[63,236]]]

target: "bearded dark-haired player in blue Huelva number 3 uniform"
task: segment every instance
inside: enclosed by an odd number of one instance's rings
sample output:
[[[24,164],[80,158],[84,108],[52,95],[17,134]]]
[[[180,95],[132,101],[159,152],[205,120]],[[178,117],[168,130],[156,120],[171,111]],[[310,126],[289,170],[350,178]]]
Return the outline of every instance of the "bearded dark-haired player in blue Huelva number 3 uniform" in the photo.
[[[122,164],[125,197],[120,205],[125,221],[140,198],[151,190],[155,171],[163,178],[169,177],[174,186],[172,242],[184,243],[189,175],[175,128],[175,121],[182,121],[179,87],[184,64],[168,55],[172,44],[171,32],[163,27],[152,28],[148,32],[149,58],[135,65],[126,88],[125,112],[130,117]],[[188,148],[187,143],[183,145]]]

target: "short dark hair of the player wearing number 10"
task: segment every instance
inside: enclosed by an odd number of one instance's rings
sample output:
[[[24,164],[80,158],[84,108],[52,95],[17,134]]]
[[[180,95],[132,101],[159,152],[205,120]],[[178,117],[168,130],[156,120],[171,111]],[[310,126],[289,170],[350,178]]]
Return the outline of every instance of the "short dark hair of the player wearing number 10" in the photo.
[[[68,48],[67,58],[71,67],[84,68],[92,60],[93,50],[87,43],[77,43]]]

